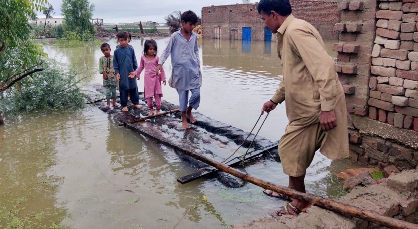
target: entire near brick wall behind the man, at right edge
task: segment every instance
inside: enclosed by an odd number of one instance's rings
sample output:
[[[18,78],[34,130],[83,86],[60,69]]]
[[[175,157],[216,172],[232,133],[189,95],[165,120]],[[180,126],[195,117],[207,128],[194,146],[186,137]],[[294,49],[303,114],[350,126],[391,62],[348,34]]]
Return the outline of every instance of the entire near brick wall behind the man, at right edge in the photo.
[[[418,165],[418,3],[338,3],[337,71],[351,114],[350,157],[376,166]]]

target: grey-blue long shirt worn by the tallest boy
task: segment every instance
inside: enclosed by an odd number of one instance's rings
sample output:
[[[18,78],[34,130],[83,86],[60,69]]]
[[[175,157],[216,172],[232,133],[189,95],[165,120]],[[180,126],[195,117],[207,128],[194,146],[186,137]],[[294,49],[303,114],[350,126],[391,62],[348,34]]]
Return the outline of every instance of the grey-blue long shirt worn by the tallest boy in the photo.
[[[200,72],[199,47],[197,35],[192,32],[189,41],[181,35],[180,30],[173,33],[167,47],[161,53],[158,64],[163,65],[171,54],[173,70],[168,80],[172,88],[190,90],[200,88],[202,74]]]

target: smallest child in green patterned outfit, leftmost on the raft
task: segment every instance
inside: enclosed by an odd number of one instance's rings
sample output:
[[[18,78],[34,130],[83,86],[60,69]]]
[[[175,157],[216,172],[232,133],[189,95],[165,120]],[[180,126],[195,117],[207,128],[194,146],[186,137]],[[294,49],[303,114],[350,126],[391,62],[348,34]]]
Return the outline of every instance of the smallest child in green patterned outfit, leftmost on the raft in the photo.
[[[104,56],[99,59],[99,72],[103,74],[103,87],[106,89],[107,108],[110,108],[110,97],[113,98],[113,107],[119,107],[116,103],[117,80],[113,69],[113,56],[110,55],[110,45],[103,43],[100,50]]]

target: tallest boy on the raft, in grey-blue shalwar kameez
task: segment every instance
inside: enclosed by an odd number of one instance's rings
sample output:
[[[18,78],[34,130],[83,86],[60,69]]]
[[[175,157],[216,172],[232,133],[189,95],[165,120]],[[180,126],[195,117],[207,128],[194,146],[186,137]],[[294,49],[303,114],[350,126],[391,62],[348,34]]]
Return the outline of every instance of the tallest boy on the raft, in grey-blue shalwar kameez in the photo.
[[[193,11],[186,11],[181,14],[180,19],[182,27],[171,35],[166,49],[161,54],[156,72],[162,69],[162,65],[171,54],[173,70],[168,84],[175,88],[179,94],[183,129],[189,129],[186,115],[189,116],[191,123],[197,121],[191,110],[199,107],[202,85],[197,35],[193,32],[197,23],[197,15]],[[191,92],[190,99],[189,91]],[[187,106],[187,100],[189,106]]]

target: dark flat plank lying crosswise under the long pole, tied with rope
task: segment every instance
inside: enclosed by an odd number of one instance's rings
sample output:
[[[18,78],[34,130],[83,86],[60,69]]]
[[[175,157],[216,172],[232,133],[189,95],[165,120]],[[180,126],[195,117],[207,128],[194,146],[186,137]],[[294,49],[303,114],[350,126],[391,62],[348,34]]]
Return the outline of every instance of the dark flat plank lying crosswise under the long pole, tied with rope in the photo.
[[[255,158],[255,157],[257,157],[261,154],[264,154],[265,151],[273,149],[273,148],[277,148],[277,146],[278,146],[278,142],[274,143],[274,144],[271,144],[271,145],[267,145],[267,146],[258,148],[256,150],[251,151],[251,152],[248,152],[244,161],[250,160],[250,159]],[[243,160],[240,157],[235,157],[235,158],[229,160],[228,162],[226,162],[225,164],[228,165],[228,166],[236,166],[239,163],[241,163],[242,161]],[[189,175],[186,175],[186,176],[183,176],[183,177],[179,177],[177,179],[177,181],[180,182],[180,184],[186,184],[186,183],[189,183],[191,181],[202,178],[204,176],[215,173],[216,171],[218,171],[218,169],[211,166],[211,167],[208,167],[208,168],[206,168],[202,171],[197,171],[195,173],[192,173],[192,174],[189,174]]]

